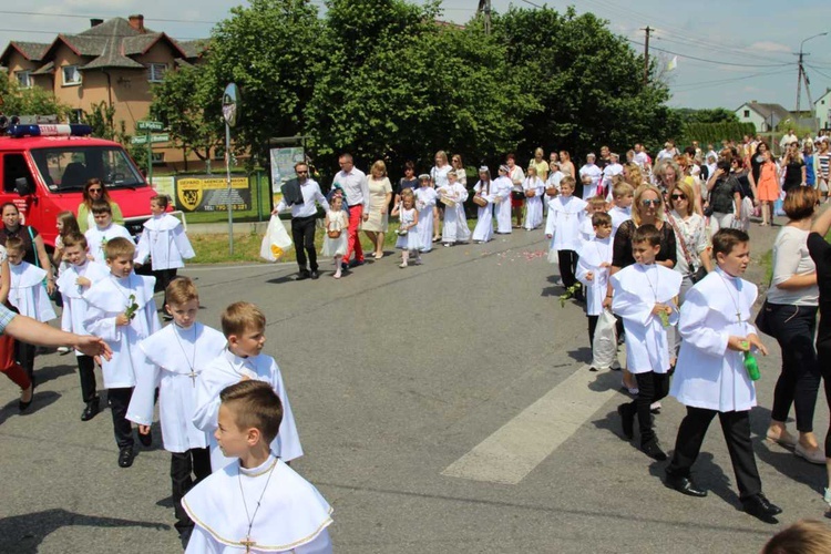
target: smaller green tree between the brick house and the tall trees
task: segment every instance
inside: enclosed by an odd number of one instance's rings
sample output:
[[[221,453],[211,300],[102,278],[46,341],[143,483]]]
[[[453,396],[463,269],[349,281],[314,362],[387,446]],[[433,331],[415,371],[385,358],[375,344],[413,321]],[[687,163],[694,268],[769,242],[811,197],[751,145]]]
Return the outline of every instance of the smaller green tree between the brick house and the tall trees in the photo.
[[[214,106],[218,98],[205,70],[203,65],[184,65],[168,71],[164,82],[154,88],[150,107],[153,117],[164,122],[171,141],[202,161],[211,160],[211,151],[225,140]]]

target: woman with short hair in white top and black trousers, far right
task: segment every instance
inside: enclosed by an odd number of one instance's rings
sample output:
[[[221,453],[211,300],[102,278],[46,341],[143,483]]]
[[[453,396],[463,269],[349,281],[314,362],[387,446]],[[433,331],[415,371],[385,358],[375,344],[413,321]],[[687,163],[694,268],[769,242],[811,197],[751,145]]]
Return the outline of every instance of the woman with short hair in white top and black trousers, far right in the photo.
[[[824,464],[825,454],[813,434],[813,410],[820,386],[813,342],[819,288],[817,266],[808,252],[808,235],[818,202],[817,189],[804,186],[788,191],[784,197],[784,213],[790,220],[773,243],[773,278],[759,324],[782,349],[782,372],[773,389],[767,437],[794,447],[794,453],[810,462]],[[799,441],[786,429],[791,404]]]

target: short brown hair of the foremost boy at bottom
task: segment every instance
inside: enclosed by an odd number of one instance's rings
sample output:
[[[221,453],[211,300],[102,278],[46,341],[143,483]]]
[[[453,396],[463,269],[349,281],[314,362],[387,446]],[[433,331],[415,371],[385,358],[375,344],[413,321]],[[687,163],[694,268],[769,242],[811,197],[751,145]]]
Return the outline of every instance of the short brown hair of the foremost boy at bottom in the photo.
[[[283,402],[270,384],[250,379],[225,387],[219,400],[234,409],[234,422],[239,429],[256,429],[266,444],[270,444],[283,421]]]

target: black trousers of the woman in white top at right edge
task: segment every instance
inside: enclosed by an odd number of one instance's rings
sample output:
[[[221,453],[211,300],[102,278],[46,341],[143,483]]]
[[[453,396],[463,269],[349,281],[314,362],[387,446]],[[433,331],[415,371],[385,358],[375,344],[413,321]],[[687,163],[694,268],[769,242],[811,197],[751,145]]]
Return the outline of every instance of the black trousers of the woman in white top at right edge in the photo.
[[[822,377],[813,343],[818,308],[767,304],[766,309],[770,330],[782,349],[782,372],[773,389],[770,417],[776,421],[787,421],[793,404],[797,429],[811,432]]]

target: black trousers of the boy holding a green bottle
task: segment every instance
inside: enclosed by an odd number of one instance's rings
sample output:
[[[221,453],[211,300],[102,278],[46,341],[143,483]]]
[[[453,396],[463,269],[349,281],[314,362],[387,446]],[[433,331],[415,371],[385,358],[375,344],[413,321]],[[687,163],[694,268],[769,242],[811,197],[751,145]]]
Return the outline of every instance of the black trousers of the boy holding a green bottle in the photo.
[[[739,499],[745,500],[761,492],[761,478],[756,468],[753,443],[750,441],[750,411],[717,412],[705,408],[687,407],[678,428],[675,441],[673,461],[667,466],[667,473],[678,476],[689,476],[690,468],[701,450],[704,437],[712,418],[718,413],[721,432],[725,434],[727,450],[730,452],[736,483],[739,486]]]

